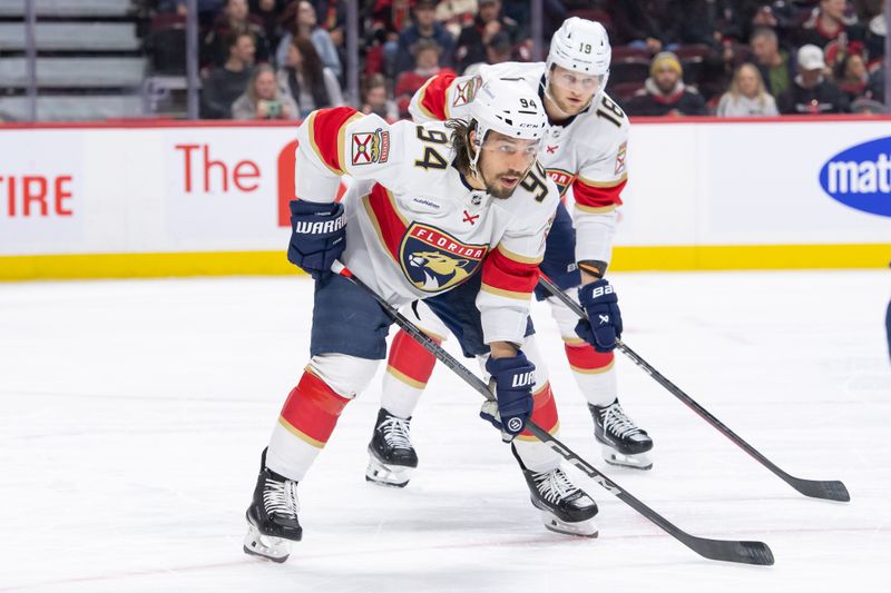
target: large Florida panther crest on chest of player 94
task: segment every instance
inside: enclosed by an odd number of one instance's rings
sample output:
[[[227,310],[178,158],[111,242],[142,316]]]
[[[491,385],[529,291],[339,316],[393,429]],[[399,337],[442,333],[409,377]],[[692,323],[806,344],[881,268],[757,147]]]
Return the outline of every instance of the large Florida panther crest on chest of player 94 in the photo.
[[[399,259],[415,288],[440,293],[477,271],[488,250],[486,245],[468,245],[438,228],[412,223],[399,246]]]

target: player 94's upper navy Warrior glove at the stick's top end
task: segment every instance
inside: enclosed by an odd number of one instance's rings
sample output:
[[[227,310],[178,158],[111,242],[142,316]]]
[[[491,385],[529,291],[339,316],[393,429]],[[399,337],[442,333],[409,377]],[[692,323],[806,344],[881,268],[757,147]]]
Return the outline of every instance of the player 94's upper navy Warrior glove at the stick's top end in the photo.
[[[343,204],[291,201],[291,243],[287,260],[313,278],[331,273],[331,265],[346,246],[346,216]]]

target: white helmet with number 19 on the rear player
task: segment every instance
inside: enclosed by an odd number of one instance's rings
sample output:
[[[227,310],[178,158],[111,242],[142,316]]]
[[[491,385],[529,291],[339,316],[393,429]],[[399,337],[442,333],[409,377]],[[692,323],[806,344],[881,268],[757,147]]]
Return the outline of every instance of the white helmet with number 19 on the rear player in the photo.
[[[545,76],[550,79],[554,66],[600,77],[598,92],[606,87],[609,78],[609,61],[613,48],[609,36],[603,24],[596,21],[570,17],[550,40],[548,59],[545,62]]]

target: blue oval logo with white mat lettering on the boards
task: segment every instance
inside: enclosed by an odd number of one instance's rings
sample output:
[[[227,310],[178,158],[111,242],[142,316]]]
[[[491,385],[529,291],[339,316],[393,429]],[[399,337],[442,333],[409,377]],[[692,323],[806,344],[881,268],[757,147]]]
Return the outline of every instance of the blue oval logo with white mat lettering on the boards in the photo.
[[[820,169],[820,185],[845,206],[891,216],[891,138],[842,150]]]

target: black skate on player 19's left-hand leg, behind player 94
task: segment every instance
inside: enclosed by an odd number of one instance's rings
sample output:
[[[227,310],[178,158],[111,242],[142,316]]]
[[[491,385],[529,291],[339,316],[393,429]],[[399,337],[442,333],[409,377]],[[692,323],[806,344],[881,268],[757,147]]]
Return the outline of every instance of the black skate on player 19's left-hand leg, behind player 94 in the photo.
[[[411,446],[411,418],[393,416],[384,408],[369,443],[369,466],[365,480],[382,486],[405,487],[411,471],[418,467],[418,455]]]

